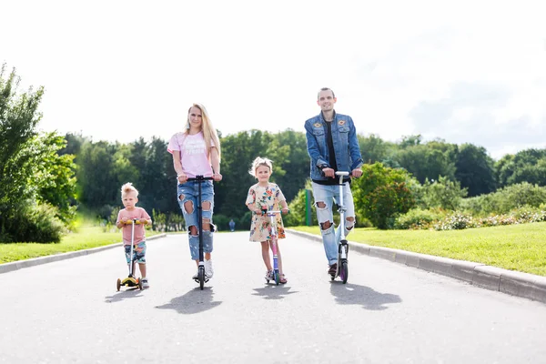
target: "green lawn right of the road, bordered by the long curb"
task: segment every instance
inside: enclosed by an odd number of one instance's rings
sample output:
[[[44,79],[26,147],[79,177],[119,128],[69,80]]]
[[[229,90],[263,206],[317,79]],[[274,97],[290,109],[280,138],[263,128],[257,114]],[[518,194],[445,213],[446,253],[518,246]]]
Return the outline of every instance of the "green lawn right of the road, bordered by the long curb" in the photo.
[[[290,227],[320,235],[319,227]],[[349,240],[546,276],[546,222],[464,230],[357,228]]]

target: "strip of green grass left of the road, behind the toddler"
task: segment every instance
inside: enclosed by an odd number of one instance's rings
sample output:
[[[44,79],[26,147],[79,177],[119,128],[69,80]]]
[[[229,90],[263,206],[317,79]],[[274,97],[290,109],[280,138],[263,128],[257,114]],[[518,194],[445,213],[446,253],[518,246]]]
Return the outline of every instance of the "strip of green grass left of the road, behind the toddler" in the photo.
[[[159,234],[147,230],[147,237]],[[120,243],[121,230],[103,232],[103,227],[81,226],[77,232],[67,234],[58,244],[5,243],[0,244],[0,264],[16,260],[38,258],[88,248]]]

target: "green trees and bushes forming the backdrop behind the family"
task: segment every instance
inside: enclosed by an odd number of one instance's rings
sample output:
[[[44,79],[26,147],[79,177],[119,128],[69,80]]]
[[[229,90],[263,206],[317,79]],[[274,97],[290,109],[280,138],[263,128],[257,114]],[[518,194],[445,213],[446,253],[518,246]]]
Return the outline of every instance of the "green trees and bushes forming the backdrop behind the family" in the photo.
[[[38,133],[37,108],[44,89],[21,92],[17,85],[15,70],[8,74],[3,66],[0,241],[58,241],[78,208],[108,221],[121,207],[120,187],[126,182],[138,188],[139,205],[153,213],[157,224],[180,226],[176,173],[167,140],[151,136],[123,144],[95,142],[76,134]],[[245,199],[256,180],[248,169],[258,156],[274,162],[271,179],[294,211],[287,224],[305,224],[309,183],[305,134],[292,129],[218,134],[223,175],[215,187],[218,227],[227,229],[231,218],[239,228],[249,226]],[[546,149],[527,149],[495,161],[484,147],[423,141],[419,135],[404,136],[399,142],[359,135],[359,147],[366,173],[354,182],[357,213],[360,221],[378,227],[389,227],[392,216],[435,198],[443,198],[442,206],[450,207],[457,205],[458,198],[480,197],[522,182],[546,186]]]

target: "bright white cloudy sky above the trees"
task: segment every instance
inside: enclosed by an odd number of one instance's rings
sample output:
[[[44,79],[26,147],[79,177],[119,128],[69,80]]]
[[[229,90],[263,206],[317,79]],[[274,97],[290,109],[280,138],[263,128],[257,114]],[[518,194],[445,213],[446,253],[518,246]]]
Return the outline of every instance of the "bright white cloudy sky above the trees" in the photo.
[[[546,147],[543,3],[0,0],[0,63],[94,141],[167,140],[193,102],[224,136],[303,132],[328,86],[360,134],[498,158]]]

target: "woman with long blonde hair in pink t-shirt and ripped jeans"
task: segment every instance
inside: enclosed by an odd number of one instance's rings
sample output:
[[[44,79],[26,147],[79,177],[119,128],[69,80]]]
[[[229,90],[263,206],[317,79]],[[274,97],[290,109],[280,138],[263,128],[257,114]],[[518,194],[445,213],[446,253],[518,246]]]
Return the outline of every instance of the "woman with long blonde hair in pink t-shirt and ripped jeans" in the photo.
[[[167,150],[173,155],[173,165],[177,171],[178,205],[180,205],[186,221],[189,251],[198,267],[197,184],[199,182],[188,182],[187,178],[205,176],[212,177],[217,182],[222,180],[222,175],[220,175],[220,141],[205,106],[194,104],[187,110],[186,130],[171,137]],[[205,275],[210,279],[214,275],[211,253],[213,249],[212,233],[215,230],[215,226],[212,224],[214,187],[210,180],[201,182],[201,201]],[[193,278],[197,278],[197,273]]]

